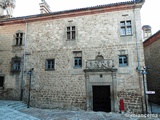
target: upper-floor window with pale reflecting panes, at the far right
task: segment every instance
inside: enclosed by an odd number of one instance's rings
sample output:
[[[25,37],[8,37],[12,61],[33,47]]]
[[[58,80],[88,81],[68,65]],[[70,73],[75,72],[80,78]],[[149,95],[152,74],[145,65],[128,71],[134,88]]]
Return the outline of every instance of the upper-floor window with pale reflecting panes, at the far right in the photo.
[[[121,35],[132,35],[131,21],[121,21]]]

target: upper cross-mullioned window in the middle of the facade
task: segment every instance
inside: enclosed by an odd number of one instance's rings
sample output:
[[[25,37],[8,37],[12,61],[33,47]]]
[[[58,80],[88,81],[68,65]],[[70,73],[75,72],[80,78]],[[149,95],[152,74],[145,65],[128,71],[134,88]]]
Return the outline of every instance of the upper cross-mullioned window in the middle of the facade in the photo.
[[[76,39],[76,27],[69,26],[67,27],[67,40],[75,40]]]

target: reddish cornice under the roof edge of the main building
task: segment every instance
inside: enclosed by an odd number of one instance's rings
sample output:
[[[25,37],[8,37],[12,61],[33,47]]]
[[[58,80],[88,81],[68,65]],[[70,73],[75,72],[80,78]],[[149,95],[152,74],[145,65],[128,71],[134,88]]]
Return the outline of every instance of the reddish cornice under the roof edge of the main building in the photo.
[[[142,5],[143,5],[143,2],[138,2],[136,3],[136,8],[141,8]],[[134,7],[135,7],[134,2],[131,2],[131,1],[108,4],[108,5],[100,5],[100,6],[94,6],[94,7],[88,7],[88,8],[52,12],[47,14],[37,14],[37,15],[10,18],[5,20],[3,19],[3,20],[0,20],[0,26],[7,25],[7,24],[21,24],[21,23],[25,23],[25,21],[36,22],[36,21],[92,15],[92,14],[105,13],[105,12],[121,11],[121,10],[133,9]]]

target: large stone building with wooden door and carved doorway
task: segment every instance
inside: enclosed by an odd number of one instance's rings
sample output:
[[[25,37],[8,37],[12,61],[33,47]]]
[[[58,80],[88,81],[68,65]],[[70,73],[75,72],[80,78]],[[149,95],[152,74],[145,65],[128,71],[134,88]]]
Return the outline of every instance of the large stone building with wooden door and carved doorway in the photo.
[[[34,107],[109,112],[123,99],[126,112],[141,113],[143,3],[1,20],[0,98],[27,101],[31,80]]]

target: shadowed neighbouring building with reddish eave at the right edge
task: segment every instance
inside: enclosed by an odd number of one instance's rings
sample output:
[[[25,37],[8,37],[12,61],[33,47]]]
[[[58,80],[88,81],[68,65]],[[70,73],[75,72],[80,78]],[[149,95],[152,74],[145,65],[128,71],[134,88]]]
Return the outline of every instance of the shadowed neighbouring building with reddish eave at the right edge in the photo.
[[[149,101],[160,105],[160,30],[143,42],[147,71],[147,86],[155,94],[149,95]]]

